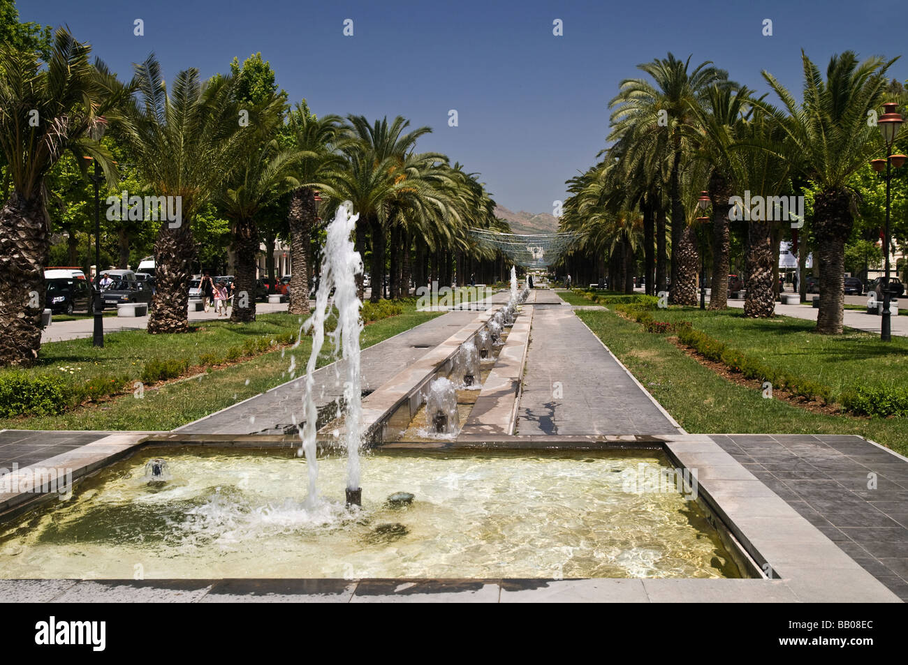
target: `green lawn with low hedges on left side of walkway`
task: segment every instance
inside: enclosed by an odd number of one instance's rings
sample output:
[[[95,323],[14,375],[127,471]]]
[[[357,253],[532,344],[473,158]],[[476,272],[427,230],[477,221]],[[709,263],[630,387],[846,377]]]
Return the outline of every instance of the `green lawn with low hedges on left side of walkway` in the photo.
[[[415,304],[404,305],[404,313],[370,323],[363,330],[360,345],[393,337],[439,312],[417,312]],[[185,335],[148,335],[143,331],[111,333],[104,337],[104,348],[92,347],[91,339],[53,342],[41,349],[40,362],[31,373],[54,374],[66,367],[66,374],[79,380],[114,373],[138,380],[143,364],[155,358],[190,357],[197,364],[202,353],[223,352],[251,337],[296,333],[301,318],[290,314],[264,314],[249,324],[206,321],[195,332]],[[319,358],[319,366],[331,361],[331,343]],[[311,351],[311,337],[302,337],[297,348],[285,348],[252,357],[232,367],[209,370],[201,377],[146,388],[143,398],[132,390],[115,399],[65,411],[55,416],[12,417],[0,419],[0,428],[10,429],[155,429],[168,430],[192,422],[236,402],[262,393],[289,380],[291,357],[296,359],[297,376],[304,371]]]

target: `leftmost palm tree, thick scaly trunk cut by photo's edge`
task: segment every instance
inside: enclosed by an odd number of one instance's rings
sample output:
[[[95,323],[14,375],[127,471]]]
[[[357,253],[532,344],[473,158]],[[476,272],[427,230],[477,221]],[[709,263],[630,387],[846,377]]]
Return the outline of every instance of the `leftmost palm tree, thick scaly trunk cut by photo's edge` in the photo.
[[[0,46],[0,147],[11,192],[0,210],[0,364],[28,365],[41,347],[50,222],[44,179],[69,151],[116,181],[110,153],[89,133],[128,95],[91,47],[59,29],[47,63]]]

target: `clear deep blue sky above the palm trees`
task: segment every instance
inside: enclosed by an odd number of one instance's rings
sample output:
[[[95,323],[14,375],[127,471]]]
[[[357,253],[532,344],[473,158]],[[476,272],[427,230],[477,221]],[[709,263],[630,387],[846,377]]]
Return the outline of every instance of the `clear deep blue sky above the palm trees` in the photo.
[[[257,51],[291,101],[319,114],[403,115],[419,142],[479,171],[512,210],[551,212],[564,182],[605,147],[608,101],[637,64],[693,54],[765,92],[763,69],[799,93],[801,49],[825,68],[846,49],[902,55],[904,0],[725,2],[321,2],[19,0],[20,20],[68,24],[122,78],[157,54],[165,76],[225,72]],[[144,36],[133,34],[143,19]],[[342,34],[353,20],[353,36]],[[763,36],[764,19],[773,36]],[[552,34],[561,19],[564,35]],[[906,54],[908,55],[908,54]],[[908,79],[908,59],[891,73]],[[449,127],[456,109],[459,126]]]

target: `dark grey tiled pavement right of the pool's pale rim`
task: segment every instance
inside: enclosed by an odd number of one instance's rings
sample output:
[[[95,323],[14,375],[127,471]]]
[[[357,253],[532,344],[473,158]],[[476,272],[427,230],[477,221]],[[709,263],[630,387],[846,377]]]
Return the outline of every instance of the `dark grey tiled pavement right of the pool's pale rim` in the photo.
[[[908,460],[851,435],[710,438],[908,601]]]

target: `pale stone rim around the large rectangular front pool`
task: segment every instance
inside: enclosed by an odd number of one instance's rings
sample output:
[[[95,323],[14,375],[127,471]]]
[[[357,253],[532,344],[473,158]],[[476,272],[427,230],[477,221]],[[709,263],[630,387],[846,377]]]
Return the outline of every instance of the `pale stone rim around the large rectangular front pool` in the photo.
[[[46,460],[44,465],[72,469],[73,477],[77,478],[111,464],[145,443],[201,443],[187,442],[184,437],[176,438],[183,441],[177,442],[171,436],[159,433],[111,435]],[[0,580],[0,598],[29,602],[211,602],[241,599],[341,602],[901,602],[882,582],[864,571],[709,435],[649,437],[651,441],[623,436],[567,438],[568,441],[560,441],[556,437],[539,437],[522,442],[501,441],[496,442],[498,445],[486,447],[504,448],[509,444],[508,447],[522,449],[662,448],[679,468],[696,474],[700,498],[765,576],[717,580]],[[222,445],[224,442],[209,439],[207,443]],[[262,445],[263,442],[249,441],[248,445],[256,443]],[[420,447],[428,450],[432,446]],[[444,447],[462,449],[469,446]],[[75,465],[78,465],[78,474]],[[21,496],[0,494],[0,511],[7,512],[15,504],[34,498],[35,494],[8,504]],[[5,508],[2,507],[4,505]]]

